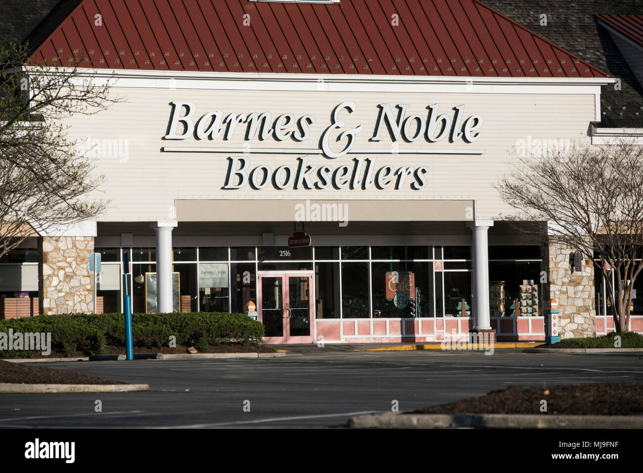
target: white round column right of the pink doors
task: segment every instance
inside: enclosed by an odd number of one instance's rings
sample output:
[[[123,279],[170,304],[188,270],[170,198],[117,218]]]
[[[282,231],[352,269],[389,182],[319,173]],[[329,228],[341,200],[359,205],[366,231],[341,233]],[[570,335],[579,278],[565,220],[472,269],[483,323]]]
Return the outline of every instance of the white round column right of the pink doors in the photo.
[[[467,227],[473,233],[473,328],[491,329],[487,230],[493,220],[474,220]]]

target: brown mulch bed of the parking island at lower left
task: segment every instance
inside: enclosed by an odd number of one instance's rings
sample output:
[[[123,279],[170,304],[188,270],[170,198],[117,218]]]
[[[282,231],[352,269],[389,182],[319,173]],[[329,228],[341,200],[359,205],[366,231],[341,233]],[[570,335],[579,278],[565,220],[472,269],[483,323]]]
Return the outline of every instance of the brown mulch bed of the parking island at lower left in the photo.
[[[40,366],[25,366],[0,360],[0,383],[17,384],[127,384],[105,380],[96,376],[82,375],[68,369],[52,369]]]

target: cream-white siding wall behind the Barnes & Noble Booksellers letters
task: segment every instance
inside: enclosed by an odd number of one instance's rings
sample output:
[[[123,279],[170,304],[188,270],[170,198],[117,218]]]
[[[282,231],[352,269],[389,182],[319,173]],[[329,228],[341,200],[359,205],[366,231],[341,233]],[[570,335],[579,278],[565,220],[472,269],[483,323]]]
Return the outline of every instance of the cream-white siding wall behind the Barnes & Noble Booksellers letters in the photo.
[[[555,87],[555,86],[552,86]],[[243,91],[243,90],[186,90],[164,88],[114,88],[114,95],[127,99],[114,104],[106,111],[91,116],[74,116],[67,121],[71,125],[69,138],[86,140],[125,140],[121,150],[127,156],[102,155],[97,159],[96,172],[104,174],[106,181],[95,192],[97,198],[111,200],[109,213],[102,221],[152,221],[173,218],[174,199],[475,199],[476,218],[493,218],[508,209],[497,196],[492,185],[498,176],[507,171],[511,151],[518,140],[569,139],[588,142],[589,122],[595,117],[595,95],[588,93],[551,94],[503,94],[503,93],[410,93],[404,92],[338,92],[338,91]],[[239,147],[246,125],[239,124],[237,132],[228,142],[217,140],[161,139],[167,130],[172,100],[194,102],[198,118],[208,111],[222,110],[228,113],[251,113],[269,111],[273,120],[281,113],[290,112],[296,117],[313,115],[316,123],[311,125],[311,138],[298,143],[293,140],[276,142],[272,138],[252,146],[265,147],[318,147],[318,140],[331,123],[332,109],[344,100],[357,104],[357,111],[341,113],[347,128],[364,125],[357,136],[356,148],[390,148],[388,133],[383,133],[382,142],[368,142],[373,135],[377,118],[377,104],[411,104],[406,116],[428,113],[426,106],[440,104],[440,113],[453,116],[454,106],[464,104],[464,118],[482,115],[484,124],[479,130],[480,138],[471,144],[462,140],[449,143],[447,139],[429,144],[421,139],[405,147],[439,149],[484,149],[480,155],[419,155],[377,154],[377,168],[390,164],[400,166],[428,166],[428,185],[421,190],[412,190],[407,179],[401,190],[390,187],[377,190],[275,190],[271,185],[262,190],[246,186],[240,190],[222,190],[230,154],[222,153],[163,153],[163,146]],[[395,110],[395,109],[394,109]],[[118,142],[113,142],[118,145]],[[337,144],[338,149],[341,148]],[[102,154],[102,152],[101,152]],[[240,153],[239,153],[240,154]],[[279,165],[295,167],[298,154],[251,154],[252,167],[266,164],[275,169]],[[368,156],[368,155],[367,155]],[[309,163],[332,165],[351,164],[355,155],[347,154],[334,160],[323,156],[310,156]]]

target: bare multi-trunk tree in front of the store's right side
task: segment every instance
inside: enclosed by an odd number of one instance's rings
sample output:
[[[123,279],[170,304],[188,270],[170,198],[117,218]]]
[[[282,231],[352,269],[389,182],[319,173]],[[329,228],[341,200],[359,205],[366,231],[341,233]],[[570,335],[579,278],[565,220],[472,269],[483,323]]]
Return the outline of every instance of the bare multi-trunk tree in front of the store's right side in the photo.
[[[605,276],[615,328],[627,331],[632,288],[643,268],[643,147],[620,141],[516,154],[496,185],[519,211],[504,219],[548,222],[557,243],[590,258]]]

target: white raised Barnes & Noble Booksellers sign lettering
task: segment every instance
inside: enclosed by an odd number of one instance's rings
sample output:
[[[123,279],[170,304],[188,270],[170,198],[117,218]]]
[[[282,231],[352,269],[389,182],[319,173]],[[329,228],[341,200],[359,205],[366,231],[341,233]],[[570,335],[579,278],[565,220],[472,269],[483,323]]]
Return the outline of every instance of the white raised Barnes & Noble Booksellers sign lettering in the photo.
[[[196,106],[193,102],[173,101],[168,132],[163,137],[165,140],[185,140],[194,136],[195,140],[231,140],[235,133],[244,133],[243,140],[250,141],[257,138],[260,141],[273,139],[276,142],[293,140],[302,143],[310,140],[310,125],[316,122],[312,115],[296,117],[293,113],[283,113],[276,116],[273,121],[270,112],[263,113],[229,113],[224,116],[222,111],[211,111],[195,118]],[[464,105],[453,107],[453,116],[448,113],[440,114],[439,104],[427,106],[428,113],[406,116],[409,104],[397,104],[395,108],[390,104],[379,104],[376,126],[370,142],[381,142],[383,134],[388,132],[392,142],[403,141],[408,144],[423,138],[426,143],[437,143],[445,138],[448,142],[455,143],[460,140],[473,143],[480,138],[482,116],[471,115],[465,118]],[[185,109],[185,114],[183,111]],[[427,179],[424,176],[428,167],[406,167],[395,169],[392,165],[383,165],[376,169],[376,158],[365,158],[365,154],[397,154],[397,145],[390,150],[356,149],[356,136],[362,133],[364,125],[347,127],[345,118],[347,114],[356,111],[354,102],[345,101],[334,107],[331,113],[331,124],[321,134],[317,147],[312,149],[296,149],[293,152],[300,154],[293,165],[282,165],[274,171],[267,165],[252,167],[248,156],[236,155],[228,157],[228,172],[223,189],[241,189],[250,185],[253,189],[263,189],[272,183],[275,189],[325,189],[332,186],[334,189],[365,190],[373,185],[377,189],[386,189],[394,186],[401,189],[408,182],[411,189],[418,190],[426,187]],[[245,124],[245,131],[237,131],[239,125]],[[179,130],[180,128],[180,130]],[[338,149],[340,143],[341,149]],[[247,145],[244,145],[246,147]],[[180,151],[180,150],[172,150]],[[216,152],[217,150],[213,150]],[[228,152],[229,150],[226,150]],[[248,154],[244,149],[239,149],[241,154]],[[265,149],[249,150],[249,153],[266,153]],[[407,151],[415,153],[416,151]],[[275,153],[291,153],[288,149],[278,149]],[[308,153],[308,154],[306,154]],[[430,149],[422,148],[419,154],[431,153]],[[440,153],[437,151],[436,153]],[[466,152],[463,152],[466,153]],[[310,154],[322,154],[326,158],[335,159],[345,154],[361,154],[352,159],[352,164],[316,165],[308,164]],[[457,151],[453,154],[459,154]],[[407,180],[408,178],[408,180]]]

